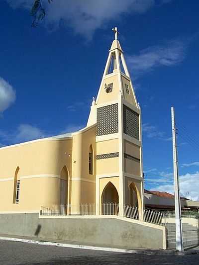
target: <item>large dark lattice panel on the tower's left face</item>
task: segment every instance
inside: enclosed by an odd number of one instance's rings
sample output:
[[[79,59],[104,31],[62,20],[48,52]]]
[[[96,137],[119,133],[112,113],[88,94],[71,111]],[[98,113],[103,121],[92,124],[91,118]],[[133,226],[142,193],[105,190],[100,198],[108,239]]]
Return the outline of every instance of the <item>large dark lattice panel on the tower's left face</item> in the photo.
[[[97,109],[97,136],[118,132],[118,105]]]

